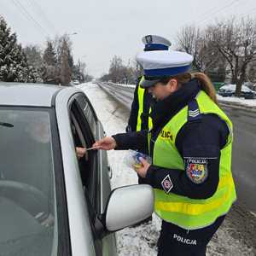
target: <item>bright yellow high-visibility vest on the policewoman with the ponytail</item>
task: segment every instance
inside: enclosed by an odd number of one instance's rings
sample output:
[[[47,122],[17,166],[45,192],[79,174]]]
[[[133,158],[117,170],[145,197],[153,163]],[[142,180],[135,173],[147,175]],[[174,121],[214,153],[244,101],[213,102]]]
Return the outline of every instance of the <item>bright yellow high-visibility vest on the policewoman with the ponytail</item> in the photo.
[[[234,201],[236,189],[231,173],[232,123],[226,114],[212,102],[204,91],[196,97],[201,114],[214,113],[223,119],[230,129],[228,142],[220,151],[219,182],[214,195],[207,199],[191,199],[162,189],[154,189],[154,211],[166,222],[176,224],[186,230],[195,230],[212,224],[226,214]],[[154,143],[153,165],[184,172],[184,162],[175,146],[178,131],[188,121],[188,106],[181,109],[165,125]],[[167,133],[166,133],[167,132]],[[162,137],[161,134],[168,134]],[[209,135],[210,136],[210,135]],[[148,140],[150,140],[150,133]],[[148,143],[150,145],[150,143]],[[172,190],[171,190],[172,191]]]

